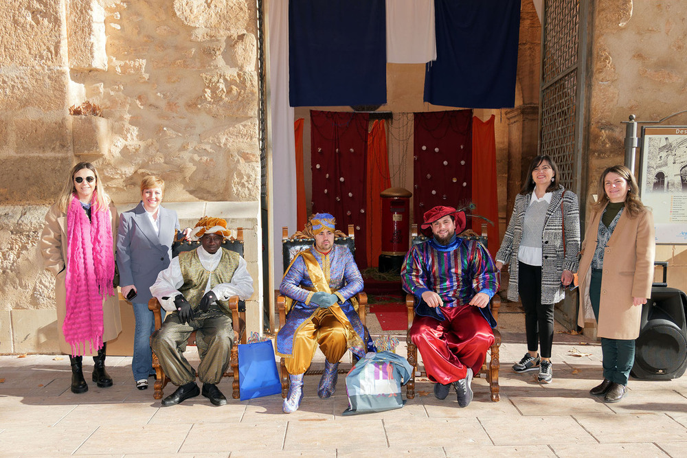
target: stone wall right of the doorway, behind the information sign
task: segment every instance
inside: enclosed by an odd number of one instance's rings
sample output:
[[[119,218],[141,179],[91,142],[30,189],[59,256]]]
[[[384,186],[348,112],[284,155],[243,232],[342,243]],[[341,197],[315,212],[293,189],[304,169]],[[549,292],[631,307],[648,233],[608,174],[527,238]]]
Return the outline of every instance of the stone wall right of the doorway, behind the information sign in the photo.
[[[601,172],[624,162],[629,115],[657,121],[687,108],[687,3],[681,1],[595,1],[592,14],[587,193],[596,193]],[[685,125],[687,116],[667,124]],[[587,212],[589,214],[589,212]],[[687,256],[682,245],[657,247],[667,260],[668,285],[687,290]]]

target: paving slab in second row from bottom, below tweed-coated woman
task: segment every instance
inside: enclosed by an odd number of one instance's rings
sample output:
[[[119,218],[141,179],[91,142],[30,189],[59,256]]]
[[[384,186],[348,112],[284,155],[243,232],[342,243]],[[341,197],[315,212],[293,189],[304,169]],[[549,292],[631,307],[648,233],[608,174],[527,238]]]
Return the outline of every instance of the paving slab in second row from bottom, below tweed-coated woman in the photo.
[[[495,445],[550,444],[551,442],[583,444],[596,442],[568,415],[535,417],[512,416],[508,421],[499,417],[480,418],[486,433]]]

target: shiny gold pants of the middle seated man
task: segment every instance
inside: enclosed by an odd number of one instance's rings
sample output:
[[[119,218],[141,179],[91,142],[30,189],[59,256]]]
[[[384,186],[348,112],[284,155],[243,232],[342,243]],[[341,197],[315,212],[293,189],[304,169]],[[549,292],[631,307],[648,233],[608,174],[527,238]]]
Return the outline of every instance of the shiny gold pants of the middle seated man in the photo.
[[[289,374],[303,374],[319,348],[330,363],[338,363],[348,350],[346,327],[328,308],[319,308],[311,319],[306,321],[293,337],[291,357],[284,358]]]

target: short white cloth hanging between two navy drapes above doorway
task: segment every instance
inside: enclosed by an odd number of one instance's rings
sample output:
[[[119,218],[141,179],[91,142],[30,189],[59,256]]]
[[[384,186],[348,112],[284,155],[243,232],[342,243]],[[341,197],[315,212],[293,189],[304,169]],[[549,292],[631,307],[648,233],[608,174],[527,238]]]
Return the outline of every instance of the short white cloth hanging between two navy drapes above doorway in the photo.
[[[386,0],[387,62],[436,60],[434,0]]]

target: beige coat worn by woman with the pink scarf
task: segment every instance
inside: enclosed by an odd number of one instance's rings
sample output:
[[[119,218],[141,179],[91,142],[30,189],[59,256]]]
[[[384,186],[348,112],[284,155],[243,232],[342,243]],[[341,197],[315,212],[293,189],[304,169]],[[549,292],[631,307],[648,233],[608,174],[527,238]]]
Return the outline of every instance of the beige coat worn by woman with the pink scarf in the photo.
[[[112,238],[113,249],[116,244],[117,231],[117,209],[110,203],[112,214]],[[45,227],[41,234],[41,254],[43,255],[43,265],[52,275],[55,275],[55,302],[57,309],[57,324],[60,332],[60,351],[64,354],[71,354],[71,346],[65,341],[62,332],[62,325],[67,316],[67,290],[65,288],[65,277],[67,269],[65,260],[67,254],[67,214],[60,211],[57,204],[50,207],[45,215]],[[120,319],[120,301],[117,288],[114,288],[114,295],[108,296],[102,303],[103,336],[102,341],[116,339],[122,332],[122,320]],[[86,345],[86,356],[89,353],[89,345]]]

